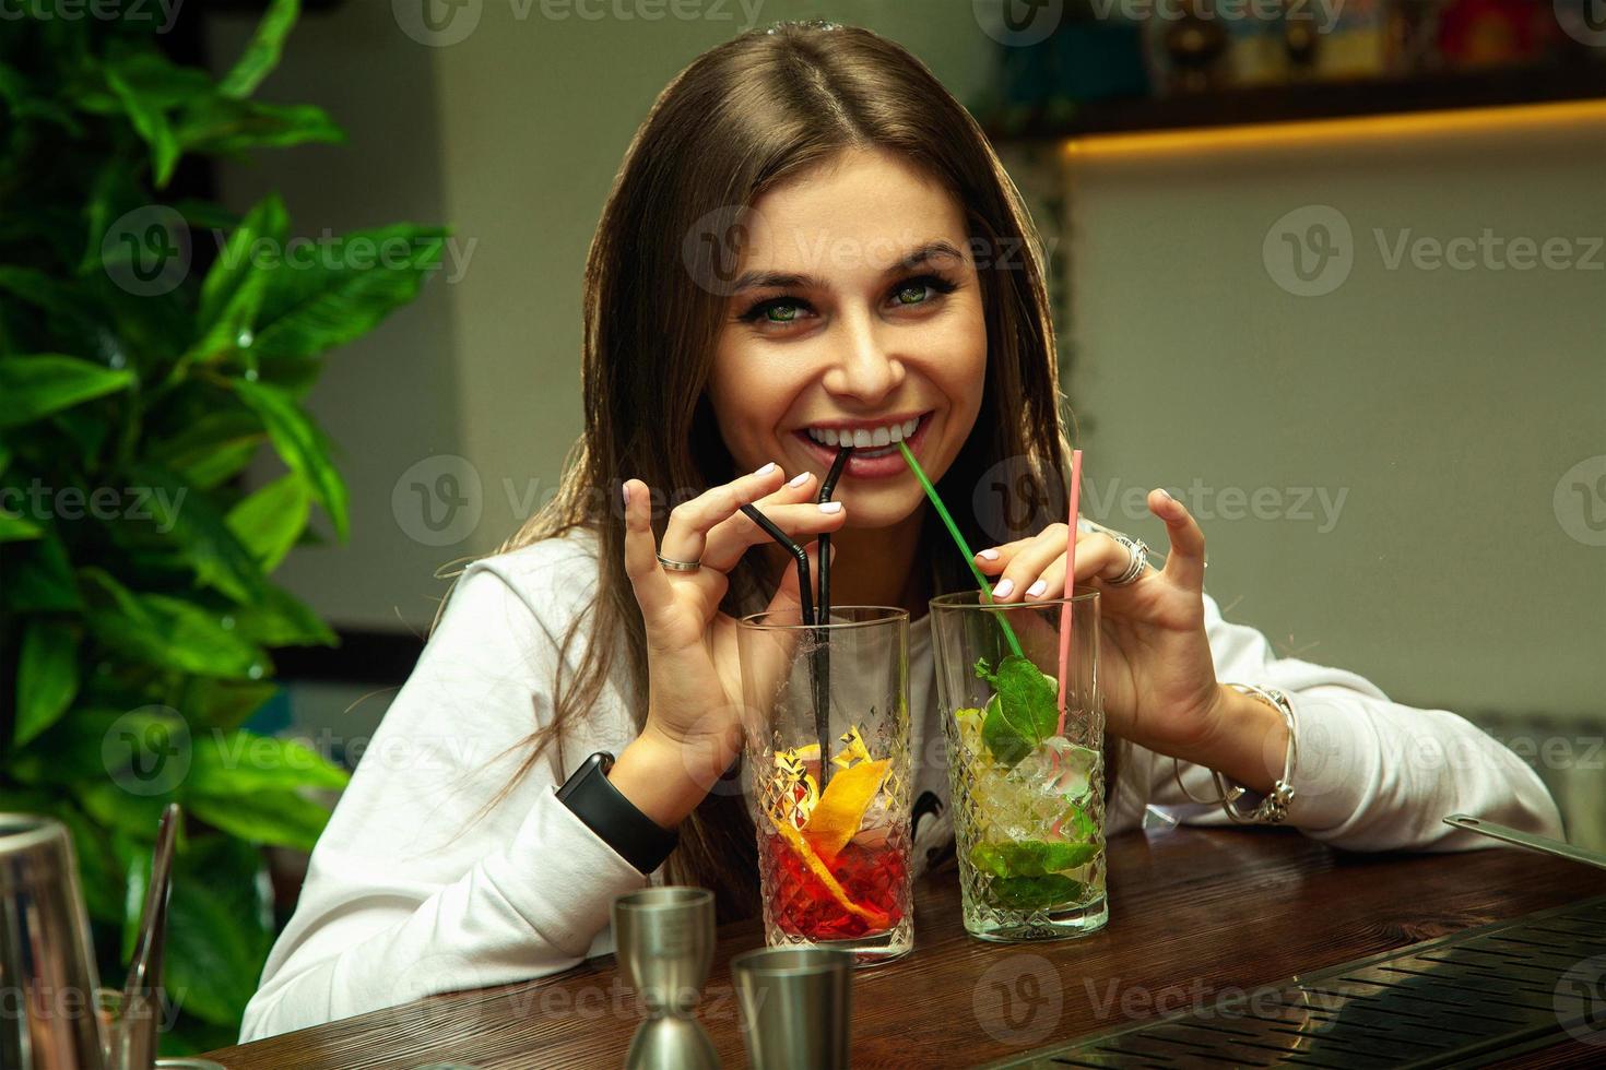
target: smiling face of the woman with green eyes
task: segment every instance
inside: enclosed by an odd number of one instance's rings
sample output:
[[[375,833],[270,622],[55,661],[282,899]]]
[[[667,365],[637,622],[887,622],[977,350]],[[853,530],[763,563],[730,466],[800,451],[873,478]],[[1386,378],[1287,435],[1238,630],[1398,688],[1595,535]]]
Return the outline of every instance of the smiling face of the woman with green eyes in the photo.
[[[774,460],[789,476],[824,476],[830,443],[854,435],[835,494],[846,526],[895,525],[923,496],[893,436],[936,481],[981,407],[986,322],[964,212],[922,172],[870,151],[752,209],[708,383],[719,433],[737,472]]]

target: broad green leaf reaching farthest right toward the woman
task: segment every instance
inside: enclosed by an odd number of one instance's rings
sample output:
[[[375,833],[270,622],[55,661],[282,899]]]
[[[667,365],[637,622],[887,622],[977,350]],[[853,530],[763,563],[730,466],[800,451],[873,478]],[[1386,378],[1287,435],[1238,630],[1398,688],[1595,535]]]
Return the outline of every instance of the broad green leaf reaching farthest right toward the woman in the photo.
[[[373,330],[440,266],[446,231],[397,225],[353,231],[312,263],[273,273],[255,350],[267,363],[318,356]]]

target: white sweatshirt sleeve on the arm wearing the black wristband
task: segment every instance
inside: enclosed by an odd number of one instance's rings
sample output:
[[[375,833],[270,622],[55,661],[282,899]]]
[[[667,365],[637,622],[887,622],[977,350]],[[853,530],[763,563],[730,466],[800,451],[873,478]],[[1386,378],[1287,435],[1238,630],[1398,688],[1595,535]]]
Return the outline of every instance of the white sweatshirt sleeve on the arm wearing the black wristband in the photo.
[[[557,746],[475,820],[551,722],[559,640],[466,569],[313,849],[241,1043],[569,969],[647,882],[557,800]]]

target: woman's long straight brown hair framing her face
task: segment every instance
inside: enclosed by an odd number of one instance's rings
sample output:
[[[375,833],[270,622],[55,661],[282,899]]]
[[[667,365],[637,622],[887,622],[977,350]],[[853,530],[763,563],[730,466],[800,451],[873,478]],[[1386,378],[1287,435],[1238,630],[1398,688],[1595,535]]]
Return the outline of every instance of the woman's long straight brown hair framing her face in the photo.
[[[581,383],[585,435],[564,464],[557,494],[498,553],[585,528],[597,536],[596,598],[562,640],[585,655],[556,683],[554,720],[519,748],[511,791],[565,725],[586,717],[615,672],[623,640],[638,728],[647,709],[641,610],[623,566],[618,488],[639,478],[655,491],[702,489],[736,476],[705,395],[724,297],[699,257],[718,255],[684,236],[750,205],[766,189],[843,149],[899,154],[941,181],[964,207],[988,327],[981,412],[938,484],[973,545],[993,545],[1065,517],[1065,459],[1054,324],[1039,237],[981,128],[927,67],[869,30],[782,22],[726,42],[686,67],[654,103],[625,152],[585,273]],[[983,484],[988,480],[988,484]],[[976,488],[1004,484],[1004,492]],[[1023,513],[1020,504],[1029,509]],[[930,513],[930,510],[928,510]],[[662,537],[665,509],[654,509]],[[927,517],[923,555],[931,590],[970,581],[940,521]],[[731,574],[721,610],[763,608],[776,578],[750,552]],[[496,802],[493,800],[493,804]],[[491,804],[491,805],[493,805]],[[723,918],[756,911],[756,850],[745,802],[711,792],[681,826],[668,861],[675,882],[716,892]]]

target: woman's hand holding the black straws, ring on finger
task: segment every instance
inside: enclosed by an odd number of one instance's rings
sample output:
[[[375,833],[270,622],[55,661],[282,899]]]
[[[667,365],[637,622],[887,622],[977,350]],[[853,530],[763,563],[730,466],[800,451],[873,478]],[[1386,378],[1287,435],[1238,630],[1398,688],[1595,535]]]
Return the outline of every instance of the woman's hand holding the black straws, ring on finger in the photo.
[[[748,547],[768,542],[742,505],[752,502],[809,553],[819,574],[822,533],[846,521],[840,502],[822,510],[817,481],[800,473],[785,480],[779,465],[710,488],[670,510],[663,547],[652,533],[650,491],[626,480],[625,571],[630,574],[647,637],[647,723],[613,765],[609,780],[647,817],[675,826],[729,768],[742,749],[742,677],[736,621],[719,611],[729,587],[726,573]],[[702,561],[695,573],[668,571],[671,561]],[[787,568],[769,611],[797,614],[797,569]]]

